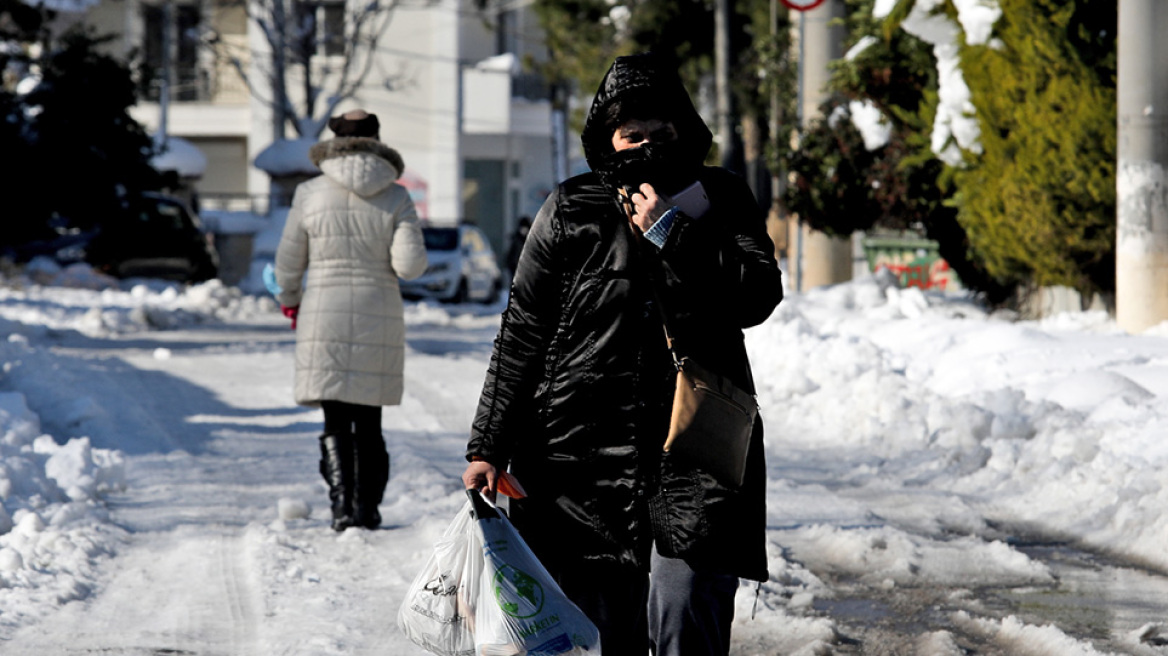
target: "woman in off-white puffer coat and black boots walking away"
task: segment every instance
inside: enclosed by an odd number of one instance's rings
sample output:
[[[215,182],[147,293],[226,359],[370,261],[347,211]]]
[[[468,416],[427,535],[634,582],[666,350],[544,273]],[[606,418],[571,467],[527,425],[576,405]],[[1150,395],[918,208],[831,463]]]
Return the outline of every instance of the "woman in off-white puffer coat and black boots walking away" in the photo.
[[[276,252],[277,300],[297,332],[296,402],[325,412],[333,529],[376,529],[389,481],[381,409],[402,400],[398,279],[420,275],[426,251],[396,183],[402,156],[380,141],[377,117],[355,110],[328,127],[336,138],[308,152],[324,175],[297,188]]]

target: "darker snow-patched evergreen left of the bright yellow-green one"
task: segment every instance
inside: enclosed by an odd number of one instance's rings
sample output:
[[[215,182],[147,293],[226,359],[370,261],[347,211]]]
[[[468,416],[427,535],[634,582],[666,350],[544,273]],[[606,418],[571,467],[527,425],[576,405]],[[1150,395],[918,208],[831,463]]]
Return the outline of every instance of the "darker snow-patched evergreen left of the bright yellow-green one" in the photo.
[[[1010,288],[972,257],[952,207],[952,170],[932,148],[939,98],[931,47],[874,19],[872,5],[848,0],[848,56],[832,64],[825,118],[780,153],[791,172],[787,207],[833,236],[910,231],[934,239],[966,287],[1001,302]]]

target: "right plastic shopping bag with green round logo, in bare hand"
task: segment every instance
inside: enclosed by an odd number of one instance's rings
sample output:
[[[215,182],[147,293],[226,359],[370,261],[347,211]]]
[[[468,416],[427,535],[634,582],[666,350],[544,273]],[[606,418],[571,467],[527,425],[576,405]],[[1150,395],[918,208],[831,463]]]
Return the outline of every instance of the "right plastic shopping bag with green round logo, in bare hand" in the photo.
[[[478,656],[599,656],[600,631],[548,573],[519,531],[467,490],[484,561],[474,603]]]

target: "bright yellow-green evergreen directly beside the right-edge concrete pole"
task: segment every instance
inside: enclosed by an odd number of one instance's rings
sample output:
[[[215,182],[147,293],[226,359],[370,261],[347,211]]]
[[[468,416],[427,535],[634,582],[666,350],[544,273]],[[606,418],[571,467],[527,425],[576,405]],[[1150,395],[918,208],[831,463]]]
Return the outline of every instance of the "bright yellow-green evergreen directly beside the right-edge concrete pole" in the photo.
[[[999,279],[1112,291],[1115,4],[1000,1],[1000,41],[961,54],[985,152],[957,173],[959,219]]]

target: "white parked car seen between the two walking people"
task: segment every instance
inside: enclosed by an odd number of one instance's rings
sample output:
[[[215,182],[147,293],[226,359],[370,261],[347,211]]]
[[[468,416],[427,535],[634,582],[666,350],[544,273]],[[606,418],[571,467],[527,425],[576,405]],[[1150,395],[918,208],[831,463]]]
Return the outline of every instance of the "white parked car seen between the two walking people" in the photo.
[[[402,280],[408,299],[493,302],[502,289],[502,271],[486,235],[474,225],[422,228],[430,264],[413,280]]]

